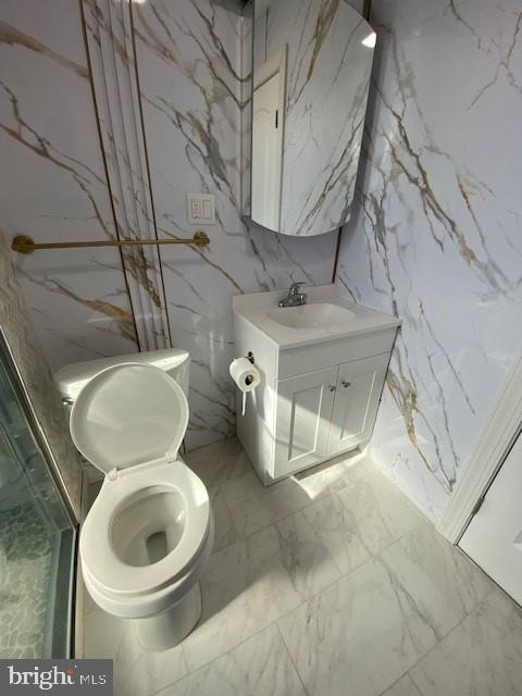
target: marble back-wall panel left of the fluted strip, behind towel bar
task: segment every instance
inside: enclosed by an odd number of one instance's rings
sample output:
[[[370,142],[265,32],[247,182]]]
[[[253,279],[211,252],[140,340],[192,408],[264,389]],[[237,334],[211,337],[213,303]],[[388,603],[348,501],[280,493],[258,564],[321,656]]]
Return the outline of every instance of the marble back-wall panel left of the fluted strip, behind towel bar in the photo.
[[[115,236],[79,3],[2,2],[0,148],[9,238]],[[137,349],[117,250],[39,251],[16,263],[51,368]]]

